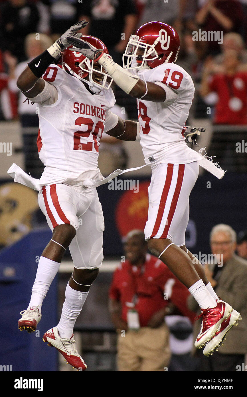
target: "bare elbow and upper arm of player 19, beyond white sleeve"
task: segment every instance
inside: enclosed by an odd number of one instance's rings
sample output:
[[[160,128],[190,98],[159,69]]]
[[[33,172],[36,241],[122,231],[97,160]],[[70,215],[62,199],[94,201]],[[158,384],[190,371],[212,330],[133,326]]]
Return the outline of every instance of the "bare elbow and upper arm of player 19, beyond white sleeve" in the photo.
[[[145,95],[146,91],[147,94]],[[138,80],[136,85],[132,88],[130,95],[139,99],[145,95],[143,99],[150,100],[151,102],[164,102],[167,96],[165,90],[159,85],[147,82],[146,87],[146,84],[141,79]]]

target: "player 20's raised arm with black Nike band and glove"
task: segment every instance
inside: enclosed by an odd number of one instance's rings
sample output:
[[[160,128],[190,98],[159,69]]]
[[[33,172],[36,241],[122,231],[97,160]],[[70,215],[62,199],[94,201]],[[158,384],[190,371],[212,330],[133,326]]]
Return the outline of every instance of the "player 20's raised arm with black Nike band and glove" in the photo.
[[[87,22],[83,20],[71,26],[52,46],[28,63],[28,66],[17,79],[17,87],[25,96],[34,98],[43,91],[45,83],[40,77],[44,74],[48,66],[54,63],[60,52],[70,45],[67,42],[67,37],[74,35],[79,29],[86,26],[86,24]]]

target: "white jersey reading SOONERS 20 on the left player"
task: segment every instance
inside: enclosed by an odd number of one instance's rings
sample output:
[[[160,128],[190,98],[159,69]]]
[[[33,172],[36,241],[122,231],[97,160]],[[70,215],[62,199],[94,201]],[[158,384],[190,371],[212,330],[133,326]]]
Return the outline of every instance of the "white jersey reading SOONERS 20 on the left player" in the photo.
[[[103,179],[98,168],[100,138],[117,124],[109,111],[115,104],[112,89],[91,94],[82,81],[53,64],[43,79],[56,87],[58,99],[52,105],[37,104],[37,146],[45,165],[40,182],[76,184],[87,178]]]

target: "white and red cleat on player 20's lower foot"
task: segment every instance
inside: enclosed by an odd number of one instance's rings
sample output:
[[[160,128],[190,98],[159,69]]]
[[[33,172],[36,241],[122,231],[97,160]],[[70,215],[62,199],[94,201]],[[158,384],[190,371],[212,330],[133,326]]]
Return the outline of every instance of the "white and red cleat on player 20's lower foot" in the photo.
[[[67,364],[72,365],[73,368],[77,368],[78,371],[84,371],[87,366],[77,351],[73,336],[74,334],[70,339],[61,338],[57,327],[53,327],[44,333],[43,341],[48,342],[49,346],[56,347],[59,353],[65,358],[65,361],[67,361]]]

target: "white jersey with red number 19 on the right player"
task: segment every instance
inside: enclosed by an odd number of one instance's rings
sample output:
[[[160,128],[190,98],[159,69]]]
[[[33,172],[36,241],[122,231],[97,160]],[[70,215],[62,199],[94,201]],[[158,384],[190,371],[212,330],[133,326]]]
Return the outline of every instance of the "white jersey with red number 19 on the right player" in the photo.
[[[137,74],[144,81],[165,84],[177,94],[175,100],[165,102],[137,100],[146,164],[186,164],[198,160],[197,152],[186,145],[182,135],[195,92],[190,75],[173,63],[142,69]]]

